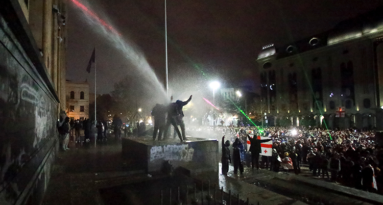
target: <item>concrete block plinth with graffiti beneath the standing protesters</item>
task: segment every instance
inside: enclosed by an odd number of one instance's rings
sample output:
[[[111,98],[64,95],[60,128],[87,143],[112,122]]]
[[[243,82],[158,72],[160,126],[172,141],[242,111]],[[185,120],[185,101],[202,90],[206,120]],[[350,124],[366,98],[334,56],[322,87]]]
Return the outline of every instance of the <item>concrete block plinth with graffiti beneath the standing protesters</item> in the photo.
[[[218,172],[218,141],[188,138],[185,143],[167,139],[153,141],[151,137],[123,138],[122,155],[127,163],[146,173],[161,171],[164,162],[187,173]]]

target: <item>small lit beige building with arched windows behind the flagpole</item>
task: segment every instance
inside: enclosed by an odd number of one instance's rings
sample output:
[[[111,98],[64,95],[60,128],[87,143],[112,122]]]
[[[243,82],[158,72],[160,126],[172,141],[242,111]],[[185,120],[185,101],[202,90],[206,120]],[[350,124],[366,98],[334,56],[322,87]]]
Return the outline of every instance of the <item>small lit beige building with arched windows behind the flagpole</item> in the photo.
[[[70,119],[89,118],[89,83],[66,81],[66,105]]]

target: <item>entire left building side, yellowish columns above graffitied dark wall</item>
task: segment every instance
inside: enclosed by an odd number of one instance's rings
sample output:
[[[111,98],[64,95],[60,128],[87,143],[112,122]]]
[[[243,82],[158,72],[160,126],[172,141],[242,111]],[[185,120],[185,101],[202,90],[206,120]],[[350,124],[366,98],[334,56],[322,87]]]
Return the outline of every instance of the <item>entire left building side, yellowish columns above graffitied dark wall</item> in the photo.
[[[40,204],[65,110],[61,0],[0,1],[0,204]]]

